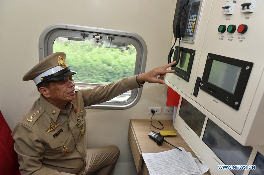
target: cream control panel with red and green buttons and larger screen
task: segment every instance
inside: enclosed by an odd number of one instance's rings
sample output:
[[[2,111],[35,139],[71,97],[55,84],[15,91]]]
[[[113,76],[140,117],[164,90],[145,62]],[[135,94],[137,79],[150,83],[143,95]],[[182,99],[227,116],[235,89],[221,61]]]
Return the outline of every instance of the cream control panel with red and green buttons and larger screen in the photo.
[[[245,123],[258,120],[254,118],[258,117],[257,107],[252,104],[258,101],[259,105],[263,96],[263,89],[259,94],[256,91],[263,81],[264,36],[259,29],[263,27],[264,1],[231,2],[235,4],[232,15],[219,12],[223,1],[212,3],[196,73],[196,79],[202,78],[201,84],[199,91],[199,83],[195,84],[191,98],[227,125],[229,133],[235,131],[240,137],[243,130],[253,129],[246,128]],[[255,144],[263,145],[258,139]]]

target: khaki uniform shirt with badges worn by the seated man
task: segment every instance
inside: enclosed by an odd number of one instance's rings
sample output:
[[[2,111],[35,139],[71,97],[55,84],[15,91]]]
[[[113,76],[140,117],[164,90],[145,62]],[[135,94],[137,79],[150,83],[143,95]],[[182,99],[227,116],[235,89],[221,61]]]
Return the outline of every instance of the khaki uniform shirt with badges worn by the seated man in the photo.
[[[84,107],[138,87],[133,76],[94,89],[75,89],[75,99],[66,110],[40,95],[12,132],[21,174],[85,174],[87,132],[80,134],[81,129],[86,131]]]

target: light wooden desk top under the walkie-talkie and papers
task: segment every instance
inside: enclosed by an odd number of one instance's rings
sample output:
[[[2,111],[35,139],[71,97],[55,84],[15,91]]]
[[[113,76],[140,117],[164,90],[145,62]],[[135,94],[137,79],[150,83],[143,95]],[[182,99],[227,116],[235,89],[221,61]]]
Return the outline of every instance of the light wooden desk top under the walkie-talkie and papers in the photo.
[[[184,148],[186,152],[191,152],[192,156],[197,158],[197,156],[193,153],[191,148],[187,145],[187,143],[183,140],[180,134],[172,126],[172,120],[160,120],[160,122],[163,123],[163,126],[164,126],[163,130],[173,130],[177,134],[176,137],[165,137],[166,141],[168,141],[169,143],[171,143],[172,145],[176,147]],[[158,152],[163,152],[163,151],[174,149],[173,146],[165,142],[163,142],[162,146],[158,146],[155,141],[153,141],[151,138],[148,137],[148,134],[150,134],[151,132],[149,128],[150,120],[131,119],[130,123],[131,123],[131,126],[133,127],[133,130],[136,135],[136,139],[138,141],[138,144],[139,144],[139,147],[142,153],[158,153]],[[158,120],[152,120],[152,124],[158,128],[162,127],[158,123]],[[154,127],[151,127],[151,129],[157,133],[159,133],[160,131],[158,129],[155,129]],[[145,163],[143,165],[142,171],[143,171],[142,174],[148,174],[148,170],[146,169]],[[205,174],[210,175],[208,171]]]

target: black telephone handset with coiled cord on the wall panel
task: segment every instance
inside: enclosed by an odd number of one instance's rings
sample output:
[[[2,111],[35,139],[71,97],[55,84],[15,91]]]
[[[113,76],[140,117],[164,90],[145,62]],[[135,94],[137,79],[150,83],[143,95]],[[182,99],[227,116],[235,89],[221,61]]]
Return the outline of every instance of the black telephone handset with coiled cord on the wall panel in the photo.
[[[173,44],[173,46],[170,49],[169,55],[168,55],[168,63],[171,63],[171,57],[172,54],[174,52],[174,45],[176,43],[177,38],[179,38],[179,47],[176,50],[176,63],[175,65],[172,65],[172,67],[175,67],[179,61],[180,61],[180,56],[181,56],[181,47],[180,47],[180,41],[182,37],[185,37],[186,35],[189,37],[193,36],[193,30],[194,30],[194,24],[192,25],[192,29],[191,26],[189,25],[189,20],[191,21],[191,19],[189,19],[189,14],[193,11],[198,11],[199,9],[199,4],[200,1],[193,3],[195,0],[177,0],[177,4],[176,4],[176,9],[175,9],[175,14],[174,14],[174,19],[173,19],[173,25],[172,25],[172,29],[173,29],[173,35],[175,37],[175,42]],[[197,9],[197,3],[198,4],[198,9]],[[194,5],[193,5],[194,4]],[[190,18],[194,17],[193,15],[190,15]],[[188,23],[189,22],[189,23]],[[192,21],[193,22],[193,21]],[[188,29],[187,29],[188,28]]]

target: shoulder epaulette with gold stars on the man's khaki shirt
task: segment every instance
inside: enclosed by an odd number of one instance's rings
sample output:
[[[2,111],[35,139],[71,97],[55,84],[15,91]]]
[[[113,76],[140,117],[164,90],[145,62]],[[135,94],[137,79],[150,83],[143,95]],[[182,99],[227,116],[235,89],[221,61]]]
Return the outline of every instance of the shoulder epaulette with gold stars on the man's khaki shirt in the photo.
[[[45,111],[44,105],[38,105],[35,109],[28,112],[28,114],[24,115],[23,119],[18,123],[23,123],[28,127],[32,127],[33,124],[37,121],[37,119],[43,114]]]

